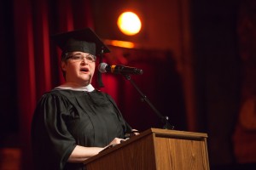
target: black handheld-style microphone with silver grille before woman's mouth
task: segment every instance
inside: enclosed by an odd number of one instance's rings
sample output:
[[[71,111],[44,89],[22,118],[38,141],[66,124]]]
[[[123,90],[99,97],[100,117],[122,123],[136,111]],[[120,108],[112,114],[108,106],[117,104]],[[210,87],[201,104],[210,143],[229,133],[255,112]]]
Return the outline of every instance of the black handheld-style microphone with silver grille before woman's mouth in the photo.
[[[134,67],[124,66],[124,65],[108,65],[106,63],[100,63],[98,70],[102,73],[111,72],[113,74],[132,74],[132,75],[142,75],[143,70]]]

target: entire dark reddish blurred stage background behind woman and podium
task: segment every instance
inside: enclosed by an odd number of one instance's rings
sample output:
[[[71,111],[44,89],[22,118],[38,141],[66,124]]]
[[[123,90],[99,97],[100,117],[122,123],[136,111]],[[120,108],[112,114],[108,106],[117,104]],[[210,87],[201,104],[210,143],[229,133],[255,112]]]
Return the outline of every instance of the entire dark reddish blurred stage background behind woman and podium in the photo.
[[[132,36],[117,26],[126,10],[142,22]],[[0,169],[32,169],[33,111],[64,82],[50,36],[84,27],[108,44],[104,62],[143,69],[131,79],[176,130],[208,134],[211,169],[256,167],[255,1],[2,0],[0,13]],[[125,77],[102,82],[132,127],[163,126]]]

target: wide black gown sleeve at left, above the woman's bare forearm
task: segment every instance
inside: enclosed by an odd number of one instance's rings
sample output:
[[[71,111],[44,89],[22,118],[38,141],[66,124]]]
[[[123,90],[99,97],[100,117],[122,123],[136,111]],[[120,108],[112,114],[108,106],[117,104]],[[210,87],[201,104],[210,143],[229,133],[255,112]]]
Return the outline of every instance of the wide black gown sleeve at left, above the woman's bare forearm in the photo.
[[[67,102],[65,97],[54,94],[44,94],[38,102],[32,120],[32,152],[37,169],[63,169],[76,146],[63,120]]]

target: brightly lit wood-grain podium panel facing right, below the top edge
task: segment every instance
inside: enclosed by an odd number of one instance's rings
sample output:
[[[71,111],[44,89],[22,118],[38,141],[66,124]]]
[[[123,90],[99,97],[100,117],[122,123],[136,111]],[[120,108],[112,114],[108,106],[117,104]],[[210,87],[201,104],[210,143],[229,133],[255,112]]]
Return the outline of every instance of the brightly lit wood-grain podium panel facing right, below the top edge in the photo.
[[[206,141],[155,137],[155,159],[158,170],[208,170]]]

